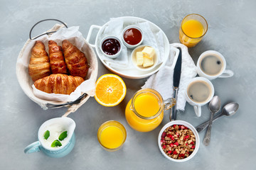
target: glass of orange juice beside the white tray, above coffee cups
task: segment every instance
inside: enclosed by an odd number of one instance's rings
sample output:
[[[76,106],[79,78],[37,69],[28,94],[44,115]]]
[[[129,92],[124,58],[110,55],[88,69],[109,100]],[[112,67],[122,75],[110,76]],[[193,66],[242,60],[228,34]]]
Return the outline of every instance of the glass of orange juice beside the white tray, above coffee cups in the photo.
[[[208,23],[203,16],[192,13],[183,18],[179,29],[179,40],[187,47],[194,47],[206,35]]]

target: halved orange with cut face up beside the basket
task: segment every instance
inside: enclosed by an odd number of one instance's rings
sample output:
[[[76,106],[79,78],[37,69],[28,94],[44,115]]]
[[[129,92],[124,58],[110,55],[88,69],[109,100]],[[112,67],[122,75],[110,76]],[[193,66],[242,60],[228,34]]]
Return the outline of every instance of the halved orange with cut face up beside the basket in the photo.
[[[121,77],[104,74],[96,81],[95,99],[102,106],[117,106],[124,99],[126,91]]]

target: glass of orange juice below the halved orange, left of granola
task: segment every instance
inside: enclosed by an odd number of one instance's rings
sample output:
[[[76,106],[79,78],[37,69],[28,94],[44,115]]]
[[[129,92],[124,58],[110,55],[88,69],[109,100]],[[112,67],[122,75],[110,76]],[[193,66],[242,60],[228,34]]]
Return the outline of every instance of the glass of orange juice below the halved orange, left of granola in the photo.
[[[100,145],[110,152],[120,149],[124,145],[126,137],[127,132],[124,125],[115,120],[103,123],[97,132],[97,139]]]

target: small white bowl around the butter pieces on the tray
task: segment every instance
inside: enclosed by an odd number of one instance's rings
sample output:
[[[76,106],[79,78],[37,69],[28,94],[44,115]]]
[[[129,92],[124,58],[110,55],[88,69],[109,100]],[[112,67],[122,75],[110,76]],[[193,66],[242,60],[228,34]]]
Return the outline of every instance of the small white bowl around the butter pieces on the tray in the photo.
[[[136,69],[139,69],[141,71],[149,71],[151,69],[154,69],[154,67],[156,67],[156,65],[158,64],[159,62],[159,55],[156,54],[154,55],[153,57],[153,60],[154,60],[154,64],[149,66],[149,67],[143,67],[143,66],[138,66],[137,63],[136,63],[136,52],[139,52],[139,51],[142,51],[144,49],[144,47],[151,47],[150,45],[139,45],[138,47],[136,47],[133,51],[132,51],[132,54],[131,54],[131,60],[132,60],[132,64],[134,65],[134,67]]]

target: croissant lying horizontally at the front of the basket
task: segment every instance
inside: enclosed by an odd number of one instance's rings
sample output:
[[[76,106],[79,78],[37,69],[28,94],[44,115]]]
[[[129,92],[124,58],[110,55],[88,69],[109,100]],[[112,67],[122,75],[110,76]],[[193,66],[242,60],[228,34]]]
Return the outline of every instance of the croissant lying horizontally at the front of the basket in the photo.
[[[48,94],[71,94],[84,81],[82,77],[73,77],[66,74],[50,74],[38,79],[34,85],[36,89]]]

